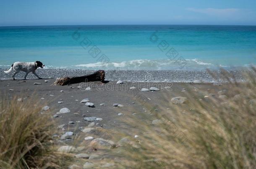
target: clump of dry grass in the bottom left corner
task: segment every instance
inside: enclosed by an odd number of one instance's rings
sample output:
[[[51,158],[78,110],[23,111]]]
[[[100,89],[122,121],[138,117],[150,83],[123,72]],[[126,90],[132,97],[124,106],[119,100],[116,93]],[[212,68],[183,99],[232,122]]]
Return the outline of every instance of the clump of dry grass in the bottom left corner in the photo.
[[[57,154],[51,139],[55,132],[42,106],[30,99],[24,102],[1,100],[0,168],[62,168],[65,156]]]

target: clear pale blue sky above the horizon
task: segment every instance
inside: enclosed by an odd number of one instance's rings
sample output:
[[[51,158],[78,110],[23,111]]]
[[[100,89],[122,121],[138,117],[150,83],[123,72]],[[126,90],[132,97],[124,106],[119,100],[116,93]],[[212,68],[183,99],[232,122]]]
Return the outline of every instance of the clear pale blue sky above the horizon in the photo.
[[[0,26],[256,25],[256,0],[0,0]]]

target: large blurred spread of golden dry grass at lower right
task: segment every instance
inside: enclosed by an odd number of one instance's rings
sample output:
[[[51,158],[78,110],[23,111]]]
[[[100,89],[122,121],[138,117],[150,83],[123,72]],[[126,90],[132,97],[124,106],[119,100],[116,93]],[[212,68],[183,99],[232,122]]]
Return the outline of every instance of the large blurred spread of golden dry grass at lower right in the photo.
[[[137,143],[140,148],[124,147],[119,155],[127,161],[122,165],[134,168],[255,169],[256,100],[253,99],[256,99],[256,71],[253,71],[248,75],[248,82],[240,84],[231,83],[232,77],[223,73],[223,77],[230,81],[227,99],[215,96],[199,101],[192,99],[197,96],[190,92],[190,103],[187,104],[190,108],[184,108],[185,104],[174,105],[167,98],[170,109],[158,106],[157,112],[152,105],[144,103],[154,116],[145,115],[143,120],[125,119],[129,125],[127,133],[139,135],[131,143]],[[163,123],[153,125],[154,119],[161,119]]]

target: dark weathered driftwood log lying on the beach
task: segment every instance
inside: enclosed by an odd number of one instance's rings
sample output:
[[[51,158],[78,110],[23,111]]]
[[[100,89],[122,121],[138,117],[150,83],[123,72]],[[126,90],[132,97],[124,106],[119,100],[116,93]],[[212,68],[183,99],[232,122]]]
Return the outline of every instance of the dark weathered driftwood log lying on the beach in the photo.
[[[93,74],[80,76],[80,77],[65,77],[65,78],[57,78],[56,81],[53,83],[54,85],[64,86],[70,85],[74,83],[82,83],[82,82],[89,82],[89,81],[101,81],[104,82],[105,79],[105,72],[99,70]]]

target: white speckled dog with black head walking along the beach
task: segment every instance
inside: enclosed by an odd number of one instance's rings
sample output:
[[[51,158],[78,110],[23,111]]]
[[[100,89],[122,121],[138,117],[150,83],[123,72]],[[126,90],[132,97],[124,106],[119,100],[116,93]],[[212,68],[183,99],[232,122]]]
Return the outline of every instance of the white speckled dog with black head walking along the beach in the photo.
[[[4,73],[10,73],[11,71],[14,71],[13,73],[13,80],[15,80],[14,76],[19,73],[20,71],[24,71],[26,72],[26,75],[25,75],[25,79],[26,77],[28,76],[28,74],[30,72],[32,72],[35,76],[37,76],[37,78],[39,79],[42,79],[40,78],[37,73],[36,73],[36,70],[37,68],[43,68],[43,63],[40,62],[40,61],[35,61],[35,62],[15,62],[12,64],[12,66],[10,67],[10,69],[8,71],[4,71]]]

